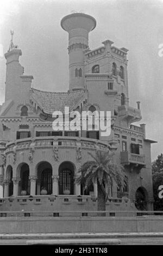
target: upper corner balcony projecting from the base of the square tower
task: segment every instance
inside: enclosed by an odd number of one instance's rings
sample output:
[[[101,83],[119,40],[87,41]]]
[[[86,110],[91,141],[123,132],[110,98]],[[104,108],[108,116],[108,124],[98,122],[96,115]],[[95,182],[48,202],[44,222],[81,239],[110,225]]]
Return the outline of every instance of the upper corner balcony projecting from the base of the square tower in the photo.
[[[140,121],[142,119],[140,109],[129,107],[127,105],[118,106],[118,116],[127,119],[130,123]]]

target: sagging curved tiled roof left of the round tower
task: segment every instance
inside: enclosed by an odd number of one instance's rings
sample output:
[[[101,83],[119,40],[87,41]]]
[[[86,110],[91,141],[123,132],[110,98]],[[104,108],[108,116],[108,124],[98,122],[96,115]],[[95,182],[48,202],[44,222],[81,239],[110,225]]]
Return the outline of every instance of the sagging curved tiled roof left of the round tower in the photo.
[[[80,102],[85,100],[85,92],[84,90],[75,90],[74,92],[55,93],[32,88],[31,99],[43,112],[52,114],[54,111],[64,112],[65,107],[69,107],[70,111],[73,111],[80,105]]]

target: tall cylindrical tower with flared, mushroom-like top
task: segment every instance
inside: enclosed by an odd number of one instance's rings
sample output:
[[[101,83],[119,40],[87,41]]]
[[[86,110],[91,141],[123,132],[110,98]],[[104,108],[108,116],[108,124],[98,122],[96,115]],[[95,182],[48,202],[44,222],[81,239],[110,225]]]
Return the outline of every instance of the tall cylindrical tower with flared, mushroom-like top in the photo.
[[[69,89],[84,87],[84,53],[88,48],[89,32],[96,27],[96,20],[87,14],[74,13],[61,20],[61,27],[68,32]]]

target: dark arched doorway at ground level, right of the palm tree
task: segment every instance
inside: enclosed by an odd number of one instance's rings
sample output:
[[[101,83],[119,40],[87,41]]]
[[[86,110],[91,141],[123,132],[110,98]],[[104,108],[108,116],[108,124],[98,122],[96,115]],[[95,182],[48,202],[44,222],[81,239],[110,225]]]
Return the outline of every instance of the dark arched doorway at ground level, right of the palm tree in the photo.
[[[135,206],[137,210],[147,211],[147,191],[144,187],[139,187],[136,190]]]

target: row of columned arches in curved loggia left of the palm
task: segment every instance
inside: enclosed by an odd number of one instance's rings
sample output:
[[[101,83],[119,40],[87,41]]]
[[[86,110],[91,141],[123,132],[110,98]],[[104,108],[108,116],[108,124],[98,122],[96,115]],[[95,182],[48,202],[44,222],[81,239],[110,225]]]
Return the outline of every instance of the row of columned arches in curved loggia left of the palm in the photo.
[[[70,191],[70,194],[81,194],[80,185],[76,183],[76,168],[71,162],[62,162],[56,175],[53,174],[51,164],[42,161],[37,164],[35,173],[31,175],[28,164],[21,163],[14,177],[12,166],[8,166],[5,172],[4,197],[35,196],[42,194],[42,190],[46,194],[65,194],[65,190]]]

